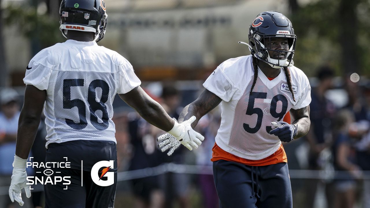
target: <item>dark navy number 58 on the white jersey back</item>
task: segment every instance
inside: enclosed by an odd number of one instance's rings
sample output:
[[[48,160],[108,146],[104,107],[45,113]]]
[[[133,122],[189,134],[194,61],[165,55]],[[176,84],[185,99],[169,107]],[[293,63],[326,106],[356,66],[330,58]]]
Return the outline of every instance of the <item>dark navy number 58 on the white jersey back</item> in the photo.
[[[76,130],[84,129],[87,126],[87,119],[86,119],[86,105],[84,101],[80,99],[73,99],[71,100],[71,87],[83,87],[84,80],[83,79],[66,79],[63,80],[63,108],[64,109],[71,109],[73,107],[77,107],[78,115],[80,117],[80,123],[75,123],[73,120],[65,118],[65,123],[71,128]],[[96,98],[96,88],[100,87],[102,90],[100,102],[95,100]],[[109,117],[107,112],[107,106],[105,102],[108,101],[108,94],[109,94],[109,85],[104,80],[94,80],[90,83],[88,87],[88,96],[87,102],[89,104],[88,108],[90,109],[90,121],[91,124],[97,130],[105,130],[108,128]],[[100,110],[102,112],[102,123],[98,122],[98,117],[95,114],[95,111]]]

